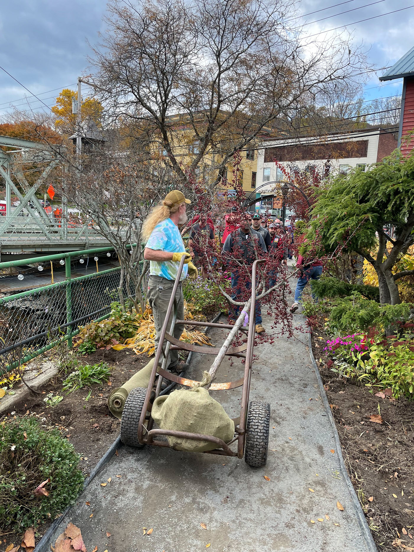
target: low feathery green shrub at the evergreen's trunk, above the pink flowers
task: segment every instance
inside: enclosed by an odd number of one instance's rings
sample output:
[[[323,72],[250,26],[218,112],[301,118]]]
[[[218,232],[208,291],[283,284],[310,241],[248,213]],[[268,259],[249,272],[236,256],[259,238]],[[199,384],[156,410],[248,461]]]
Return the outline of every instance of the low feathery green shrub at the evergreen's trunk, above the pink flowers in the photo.
[[[384,332],[400,321],[408,320],[412,305],[380,305],[378,302],[364,299],[359,293],[333,301],[328,321],[330,335],[340,333],[369,332],[376,328]]]

